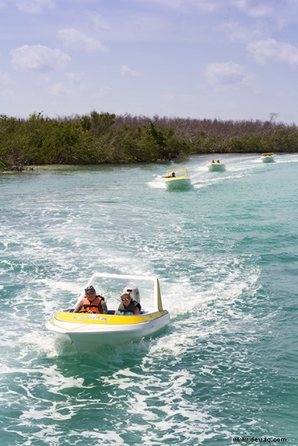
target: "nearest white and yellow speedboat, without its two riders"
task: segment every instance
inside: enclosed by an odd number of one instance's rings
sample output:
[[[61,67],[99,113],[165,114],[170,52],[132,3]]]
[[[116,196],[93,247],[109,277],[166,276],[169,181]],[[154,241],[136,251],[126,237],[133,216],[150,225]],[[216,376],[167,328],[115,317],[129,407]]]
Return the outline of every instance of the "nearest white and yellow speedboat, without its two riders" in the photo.
[[[128,282],[125,292],[130,293],[137,302],[140,302],[138,286],[143,286],[141,290],[146,302],[144,306],[148,305],[149,309],[141,309],[141,314],[133,316],[114,314],[120,303],[117,302],[121,293],[119,287],[123,287],[124,281]],[[114,309],[109,309],[108,314],[75,313],[76,305],[84,298],[83,291],[74,307],[59,311],[46,323],[48,330],[70,342],[79,353],[98,351],[102,346],[113,346],[148,337],[164,328],[170,321],[168,312],[162,307],[157,277],[95,272],[86,286],[91,285],[104,294],[108,307],[110,298],[116,299]]]

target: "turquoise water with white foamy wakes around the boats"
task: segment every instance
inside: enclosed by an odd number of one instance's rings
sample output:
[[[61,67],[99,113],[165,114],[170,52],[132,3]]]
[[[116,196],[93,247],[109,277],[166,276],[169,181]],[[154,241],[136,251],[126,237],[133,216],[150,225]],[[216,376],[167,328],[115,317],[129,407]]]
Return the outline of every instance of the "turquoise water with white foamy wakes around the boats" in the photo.
[[[181,164],[182,191],[175,163],[0,175],[1,445],[298,445],[298,154],[220,158]],[[159,277],[170,325],[57,342],[45,322],[95,270]]]

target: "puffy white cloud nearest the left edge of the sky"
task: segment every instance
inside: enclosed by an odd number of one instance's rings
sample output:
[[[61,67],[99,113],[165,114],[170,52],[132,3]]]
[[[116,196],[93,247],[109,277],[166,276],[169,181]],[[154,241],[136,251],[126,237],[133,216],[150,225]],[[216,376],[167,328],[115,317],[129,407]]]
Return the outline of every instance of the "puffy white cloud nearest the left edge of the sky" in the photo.
[[[51,49],[42,45],[23,45],[10,52],[15,69],[32,71],[50,71],[65,67],[70,56],[60,49]]]

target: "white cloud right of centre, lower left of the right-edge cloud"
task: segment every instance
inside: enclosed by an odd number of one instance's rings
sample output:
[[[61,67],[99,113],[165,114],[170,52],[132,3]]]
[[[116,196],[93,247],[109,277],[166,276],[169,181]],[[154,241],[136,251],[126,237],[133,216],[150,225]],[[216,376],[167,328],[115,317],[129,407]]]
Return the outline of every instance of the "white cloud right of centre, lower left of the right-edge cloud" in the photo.
[[[204,70],[205,79],[213,87],[218,86],[251,86],[252,73],[235,62],[210,63]]]

